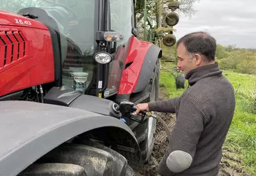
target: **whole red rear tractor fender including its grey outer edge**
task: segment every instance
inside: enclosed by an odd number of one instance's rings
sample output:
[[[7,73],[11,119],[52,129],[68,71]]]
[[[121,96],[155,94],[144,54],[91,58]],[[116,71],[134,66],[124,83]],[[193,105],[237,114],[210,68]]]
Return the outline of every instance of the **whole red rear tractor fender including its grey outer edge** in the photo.
[[[125,97],[125,95],[137,93],[146,88],[154,72],[157,59],[161,56],[162,50],[159,46],[132,37],[117,93],[118,96],[120,98]]]

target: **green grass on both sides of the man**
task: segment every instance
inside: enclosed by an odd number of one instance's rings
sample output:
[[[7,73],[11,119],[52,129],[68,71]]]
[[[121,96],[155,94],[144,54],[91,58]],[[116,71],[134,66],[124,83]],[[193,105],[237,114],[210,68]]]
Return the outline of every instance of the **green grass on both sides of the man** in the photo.
[[[224,160],[236,170],[256,175],[256,76],[232,71],[223,71],[223,74],[232,83],[236,96],[235,115],[223,146],[229,156]],[[160,86],[166,88],[168,98],[179,96],[185,90],[175,88],[174,77],[170,73],[161,73]]]

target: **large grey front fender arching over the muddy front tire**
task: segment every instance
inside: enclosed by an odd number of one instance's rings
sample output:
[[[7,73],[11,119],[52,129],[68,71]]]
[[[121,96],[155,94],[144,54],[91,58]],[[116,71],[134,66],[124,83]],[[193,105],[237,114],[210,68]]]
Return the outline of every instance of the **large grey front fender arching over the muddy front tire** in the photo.
[[[97,128],[119,129],[138,147],[132,130],[107,115],[28,101],[2,101],[0,111],[1,175],[18,175],[55,147]]]

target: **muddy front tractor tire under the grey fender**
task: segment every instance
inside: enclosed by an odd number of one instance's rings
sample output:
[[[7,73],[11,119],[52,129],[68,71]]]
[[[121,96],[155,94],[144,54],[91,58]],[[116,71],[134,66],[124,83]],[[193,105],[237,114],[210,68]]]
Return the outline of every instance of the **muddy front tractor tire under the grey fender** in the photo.
[[[65,144],[56,147],[18,176],[132,176],[134,171],[118,152],[104,145]]]

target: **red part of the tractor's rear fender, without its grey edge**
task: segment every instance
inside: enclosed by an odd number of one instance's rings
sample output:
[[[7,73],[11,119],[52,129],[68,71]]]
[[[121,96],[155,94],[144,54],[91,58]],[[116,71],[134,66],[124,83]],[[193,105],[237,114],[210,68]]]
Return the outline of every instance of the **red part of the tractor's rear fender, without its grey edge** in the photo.
[[[141,71],[144,58],[152,44],[153,43],[149,43],[147,41],[139,41],[137,38],[132,36],[124,66],[126,66],[127,63],[132,64],[122,73],[118,94],[130,94],[134,91],[137,86],[137,81],[139,80],[139,73]]]

